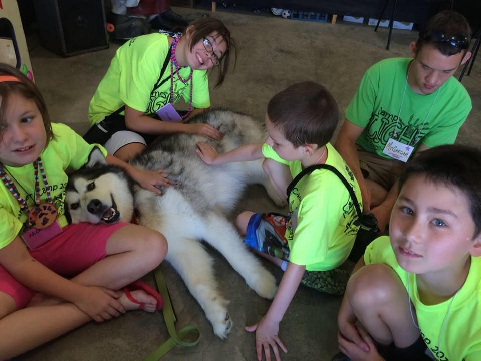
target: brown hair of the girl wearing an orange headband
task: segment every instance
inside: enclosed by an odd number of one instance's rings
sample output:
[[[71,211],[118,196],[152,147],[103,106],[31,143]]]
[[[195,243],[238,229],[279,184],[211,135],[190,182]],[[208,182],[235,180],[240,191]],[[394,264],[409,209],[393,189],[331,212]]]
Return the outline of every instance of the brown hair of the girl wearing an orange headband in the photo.
[[[5,111],[9,104],[9,98],[12,94],[18,94],[26,99],[32,99],[39,108],[40,114],[44,121],[45,132],[47,133],[47,142],[45,146],[49,144],[50,139],[53,138],[52,124],[50,122],[49,112],[45,104],[42,94],[39,89],[27,78],[21,71],[14,68],[11,65],[0,63],[0,76],[11,75],[19,79],[20,81],[3,81],[0,82],[0,127],[3,128],[7,121],[5,119]],[[0,128],[0,139],[3,136],[3,132]]]

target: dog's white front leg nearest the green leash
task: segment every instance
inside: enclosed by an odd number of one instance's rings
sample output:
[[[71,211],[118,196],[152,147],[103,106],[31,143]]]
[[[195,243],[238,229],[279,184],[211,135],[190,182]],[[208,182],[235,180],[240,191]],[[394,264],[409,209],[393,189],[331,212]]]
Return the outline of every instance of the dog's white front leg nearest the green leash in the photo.
[[[166,260],[177,270],[190,293],[205,312],[214,333],[224,339],[232,329],[226,301],[217,290],[212,268],[212,258],[196,240],[168,237],[169,251]]]

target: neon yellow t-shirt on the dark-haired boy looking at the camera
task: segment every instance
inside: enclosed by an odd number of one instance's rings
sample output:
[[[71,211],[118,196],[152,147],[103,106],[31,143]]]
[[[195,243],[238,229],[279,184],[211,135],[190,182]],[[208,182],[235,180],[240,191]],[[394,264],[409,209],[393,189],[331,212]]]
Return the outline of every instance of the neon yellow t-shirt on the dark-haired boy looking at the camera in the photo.
[[[466,281],[452,304],[450,298],[431,306],[419,300],[416,276],[399,266],[388,236],[377,238],[367,247],[364,262],[367,265],[384,263],[390,266],[399,275],[404,287],[407,285],[406,278],[409,278],[409,292],[421,335],[438,361],[481,360],[481,257],[471,257]]]

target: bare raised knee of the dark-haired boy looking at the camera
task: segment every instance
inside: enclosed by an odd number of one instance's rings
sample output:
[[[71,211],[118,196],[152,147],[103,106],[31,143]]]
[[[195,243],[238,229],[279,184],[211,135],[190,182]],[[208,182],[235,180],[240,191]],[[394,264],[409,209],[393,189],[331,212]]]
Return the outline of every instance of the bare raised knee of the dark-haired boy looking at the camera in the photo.
[[[406,293],[394,270],[384,264],[362,267],[351,276],[346,295],[355,309],[374,309],[391,304]]]

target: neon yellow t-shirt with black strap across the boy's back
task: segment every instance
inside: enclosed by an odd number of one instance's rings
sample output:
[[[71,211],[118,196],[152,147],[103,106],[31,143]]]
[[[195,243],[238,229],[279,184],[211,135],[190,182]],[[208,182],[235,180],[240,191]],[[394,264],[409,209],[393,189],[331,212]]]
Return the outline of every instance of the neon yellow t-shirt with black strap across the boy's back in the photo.
[[[330,143],[326,147],[326,164],[344,175],[360,201],[361,191],[351,170]],[[281,159],[267,144],[262,152],[289,165],[293,178],[302,171],[300,161]],[[336,174],[318,169],[303,177],[289,196],[289,213],[292,217],[285,236],[290,261],[308,271],[326,271],[347,259],[359,229],[355,224],[358,217],[349,191]]]

